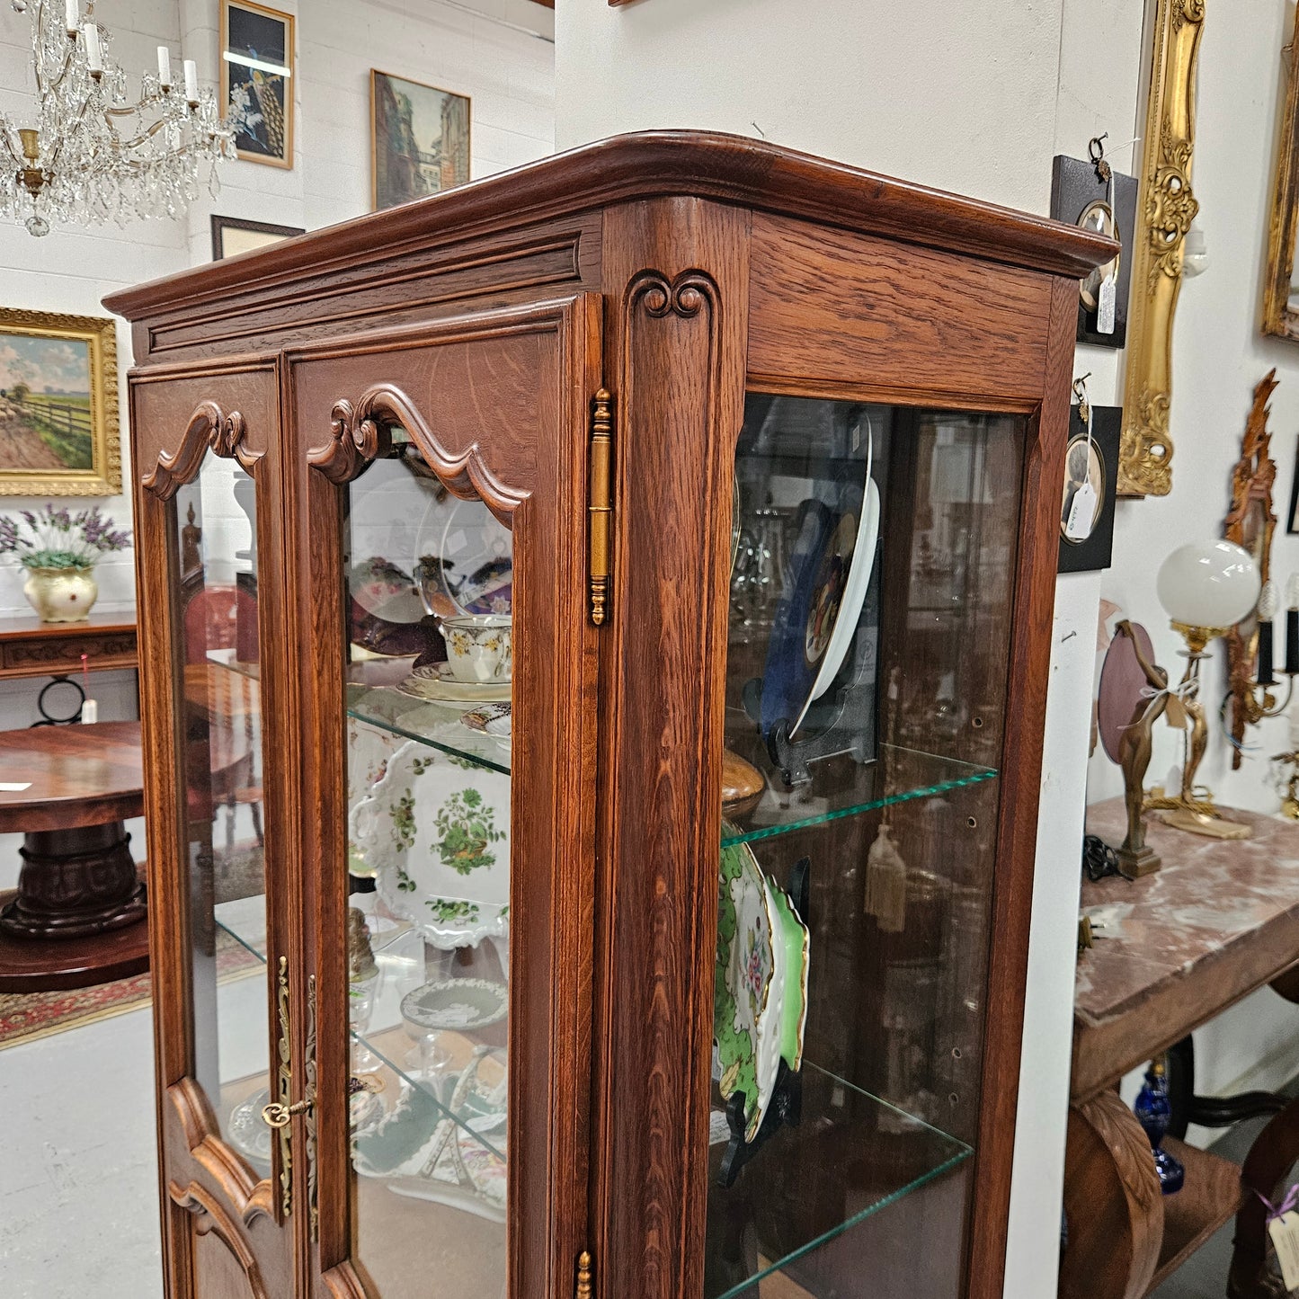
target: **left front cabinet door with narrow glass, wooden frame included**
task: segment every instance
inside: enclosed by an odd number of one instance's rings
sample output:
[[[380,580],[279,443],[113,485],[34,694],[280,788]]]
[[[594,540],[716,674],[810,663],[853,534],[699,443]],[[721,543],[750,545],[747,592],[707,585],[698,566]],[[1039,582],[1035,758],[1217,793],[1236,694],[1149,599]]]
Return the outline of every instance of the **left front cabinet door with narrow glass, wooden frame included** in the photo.
[[[149,410],[147,400],[174,408],[186,390],[157,391],[138,399],[138,412]],[[260,440],[268,423],[257,418],[260,390],[244,396]],[[200,417],[208,409],[210,422],[218,422],[214,405],[200,405],[186,444],[171,457],[184,481],[175,474],[169,481],[166,461],[160,462],[160,472],[145,478],[139,516],[142,546],[149,549],[155,538],[165,538],[168,548],[162,581],[145,585],[142,609],[142,646],[152,664],[145,679],[156,709],[147,721],[158,753],[151,798],[164,800],[148,812],[151,856],[165,863],[164,887],[149,904],[166,1086],[168,1267],[175,1269],[171,1285],[203,1287],[221,1277],[231,1294],[260,1293],[259,1286],[288,1293],[288,1134],[279,1137],[262,1113],[290,1100],[281,1046],[287,956],[271,920],[287,904],[278,891],[286,882],[284,872],[269,866],[284,860],[283,790],[268,761],[274,751],[269,682],[278,672],[264,659],[259,625],[269,601],[265,582],[274,581],[264,572],[259,525],[264,540],[275,460],[249,455],[248,472],[233,455],[196,453],[195,434],[205,429]],[[239,435],[242,421],[235,416],[229,425]],[[164,627],[169,653],[157,652]],[[165,703],[158,703],[160,683]],[[158,744],[160,731],[169,742]],[[170,773],[162,753],[173,757]]]

